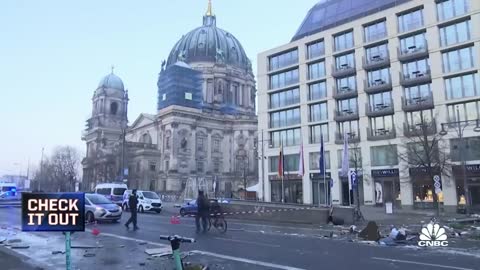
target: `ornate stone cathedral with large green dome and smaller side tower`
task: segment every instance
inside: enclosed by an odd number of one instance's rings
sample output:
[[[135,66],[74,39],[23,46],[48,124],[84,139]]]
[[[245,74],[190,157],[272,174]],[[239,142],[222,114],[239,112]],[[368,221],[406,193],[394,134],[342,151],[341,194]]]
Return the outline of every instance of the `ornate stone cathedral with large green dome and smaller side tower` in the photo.
[[[128,91],[108,74],[92,98],[82,140],[82,189],[180,192],[202,178],[231,196],[258,181],[255,78],[240,42],[217,27],[211,2],[203,24],[183,35],[162,61],[157,112],[128,122]]]

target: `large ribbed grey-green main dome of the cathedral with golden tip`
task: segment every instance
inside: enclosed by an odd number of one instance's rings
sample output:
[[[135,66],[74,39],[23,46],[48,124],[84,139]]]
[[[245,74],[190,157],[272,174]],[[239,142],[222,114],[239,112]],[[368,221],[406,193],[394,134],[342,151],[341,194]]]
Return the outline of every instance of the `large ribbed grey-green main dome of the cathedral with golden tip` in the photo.
[[[251,72],[251,62],[235,36],[217,27],[211,1],[203,16],[203,25],[185,34],[173,47],[167,66],[177,61],[188,64],[211,62],[231,65]]]

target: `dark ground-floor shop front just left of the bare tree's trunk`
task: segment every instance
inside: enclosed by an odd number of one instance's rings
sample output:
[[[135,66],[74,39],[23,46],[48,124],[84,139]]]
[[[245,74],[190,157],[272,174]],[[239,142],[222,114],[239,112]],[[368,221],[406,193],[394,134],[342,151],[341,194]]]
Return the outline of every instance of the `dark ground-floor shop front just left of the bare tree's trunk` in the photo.
[[[371,170],[375,183],[375,205],[383,206],[385,203],[393,203],[400,208],[400,173],[398,169]]]

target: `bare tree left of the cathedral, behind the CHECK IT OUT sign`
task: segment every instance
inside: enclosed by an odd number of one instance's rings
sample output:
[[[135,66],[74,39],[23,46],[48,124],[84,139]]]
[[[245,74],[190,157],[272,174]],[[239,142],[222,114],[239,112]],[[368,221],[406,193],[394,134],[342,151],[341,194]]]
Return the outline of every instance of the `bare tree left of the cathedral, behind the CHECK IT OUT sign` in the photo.
[[[35,181],[41,183],[43,191],[75,191],[79,179],[80,155],[71,146],[59,146],[45,158],[36,172]]]

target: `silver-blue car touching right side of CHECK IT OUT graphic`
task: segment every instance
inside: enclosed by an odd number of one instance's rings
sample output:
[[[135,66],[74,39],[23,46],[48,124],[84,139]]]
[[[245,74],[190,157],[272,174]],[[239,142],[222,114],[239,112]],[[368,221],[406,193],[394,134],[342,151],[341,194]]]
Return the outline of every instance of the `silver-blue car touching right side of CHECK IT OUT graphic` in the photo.
[[[111,220],[114,222],[122,218],[122,208],[100,194],[85,194],[85,220]]]

